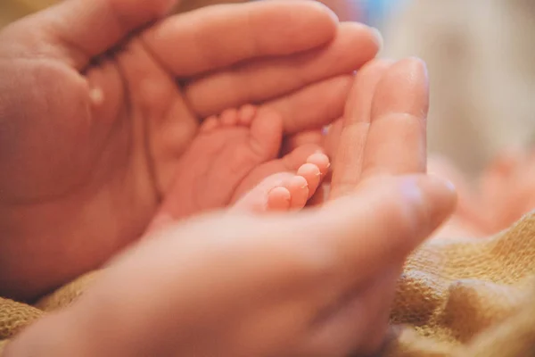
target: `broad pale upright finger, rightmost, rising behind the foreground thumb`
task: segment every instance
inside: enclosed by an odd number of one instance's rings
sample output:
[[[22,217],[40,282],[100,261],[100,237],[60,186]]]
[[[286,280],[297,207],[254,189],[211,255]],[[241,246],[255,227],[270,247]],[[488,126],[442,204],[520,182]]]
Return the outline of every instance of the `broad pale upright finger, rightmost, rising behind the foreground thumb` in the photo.
[[[406,59],[393,64],[375,89],[363,177],[425,172],[428,107],[424,62]]]

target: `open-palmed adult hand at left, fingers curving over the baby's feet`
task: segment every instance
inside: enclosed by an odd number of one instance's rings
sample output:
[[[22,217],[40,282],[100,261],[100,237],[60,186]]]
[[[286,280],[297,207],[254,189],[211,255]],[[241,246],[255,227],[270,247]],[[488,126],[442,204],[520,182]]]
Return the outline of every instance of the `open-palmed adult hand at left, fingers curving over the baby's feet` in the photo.
[[[253,102],[288,134],[317,128],[379,46],[313,2],[154,22],[172,3],[68,0],[0,34],[0,295],[39,295],[138,237],[202,117]]]

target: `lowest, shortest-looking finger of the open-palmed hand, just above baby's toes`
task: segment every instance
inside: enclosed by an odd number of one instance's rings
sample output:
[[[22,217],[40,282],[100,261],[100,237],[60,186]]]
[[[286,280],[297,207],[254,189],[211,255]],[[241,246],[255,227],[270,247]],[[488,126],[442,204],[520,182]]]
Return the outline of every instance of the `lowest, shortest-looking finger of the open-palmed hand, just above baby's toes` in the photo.
[[[286,134],[322,128],[342,116],[352,81],[353,75],[325,79],[261,106],[283,116]]]

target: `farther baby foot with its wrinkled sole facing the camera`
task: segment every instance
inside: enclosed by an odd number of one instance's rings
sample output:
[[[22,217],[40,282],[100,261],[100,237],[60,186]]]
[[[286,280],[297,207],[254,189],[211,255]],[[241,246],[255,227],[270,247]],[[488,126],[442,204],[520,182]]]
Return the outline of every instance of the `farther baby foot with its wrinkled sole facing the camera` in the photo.
[[[283,120],[255,106],[204,120],[177,165],[162,210],[174,218],[225,207],[252,170],[279,153]]]

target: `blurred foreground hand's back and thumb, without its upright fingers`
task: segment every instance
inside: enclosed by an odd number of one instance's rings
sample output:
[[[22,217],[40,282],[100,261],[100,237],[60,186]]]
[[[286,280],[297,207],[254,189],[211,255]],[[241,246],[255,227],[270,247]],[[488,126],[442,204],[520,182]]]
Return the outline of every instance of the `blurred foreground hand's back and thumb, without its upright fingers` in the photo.
[[[439,179],[384,177],[320,209],[189,220],[123,254],[5,357],[373,351],[397,272],[384,276],[385,266],[403,262],[454,203]]]

